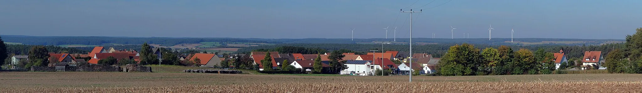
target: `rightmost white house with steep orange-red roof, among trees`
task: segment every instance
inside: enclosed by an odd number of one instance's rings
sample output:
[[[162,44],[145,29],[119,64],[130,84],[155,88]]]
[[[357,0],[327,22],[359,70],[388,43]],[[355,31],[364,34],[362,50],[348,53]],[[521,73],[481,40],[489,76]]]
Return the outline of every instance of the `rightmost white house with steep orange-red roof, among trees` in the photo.
[[[584,51],[584,60],[582,60],[582,69],[587,69],[591,65],[602,65],[604,63],[602,51]]]

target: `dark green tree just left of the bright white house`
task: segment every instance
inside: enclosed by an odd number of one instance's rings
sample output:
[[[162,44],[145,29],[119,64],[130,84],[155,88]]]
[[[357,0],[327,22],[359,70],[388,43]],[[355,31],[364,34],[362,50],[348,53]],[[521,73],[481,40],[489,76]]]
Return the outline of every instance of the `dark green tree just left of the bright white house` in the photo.
[[[330,53],[330,56],[327,56],[327,58],[330,59],[329,65],[332,66],[330,71],[334,74],[338,74],[340,71],[343,71],[343,69],[348,69],[348,66],[345,65],[345,62],[340,62],[343,60],[343,57],[345,57],[345,55],[343,55],[343,52],[351,52],[351,51],[347,49],[335,50],[335,51],[332,51],[332,53]]]

